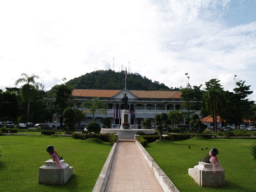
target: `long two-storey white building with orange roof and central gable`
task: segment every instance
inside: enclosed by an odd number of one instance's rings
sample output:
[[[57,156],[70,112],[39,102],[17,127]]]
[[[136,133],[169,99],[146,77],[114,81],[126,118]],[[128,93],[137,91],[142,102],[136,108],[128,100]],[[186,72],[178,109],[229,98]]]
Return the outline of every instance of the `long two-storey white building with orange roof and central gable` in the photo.
[[[81,104],[86,100],[90,100],[94,97],[100,97],[101,100],[108,104],[107,116],[105,114],[96,114],[94,121],[102,125],[102,119],[109,117],[112,120],[112,124],[121,124],[122,110],[124,109],[124,102],[122,98],[124,94],[128,96],[128,106],[131,115],[131,125],[136,127],[141,125],[145,119],[150,119],[151,123],[154,124],[154,116],[160,113],[167,113],[170,110],[181,110],[187,111],[186,108],[182,108],[181,104],[184,100],[181,98],[180,91],[144,91],[144,90],[91,90],[91,89],[75,89],[72,93],[72,99],[68,102],[74,103],[74,108],[81,110],[87,110],[86,106],[81,108]],[[53,99],[47,98],[47,103]],[[190,102],[196,102],[190,101]],[[199,118],[200,111],[196,111]],[[134,114],[134,115],[133,115]],[[52,122],[56,122],[56,125],[60,123],[59,116],[54,116]],[[86,120],[83,123],[92,122],[92,115],[86,113]],[[50,123],[49,123],[50,124]],[[181,124],[187,124],[185,119]]]

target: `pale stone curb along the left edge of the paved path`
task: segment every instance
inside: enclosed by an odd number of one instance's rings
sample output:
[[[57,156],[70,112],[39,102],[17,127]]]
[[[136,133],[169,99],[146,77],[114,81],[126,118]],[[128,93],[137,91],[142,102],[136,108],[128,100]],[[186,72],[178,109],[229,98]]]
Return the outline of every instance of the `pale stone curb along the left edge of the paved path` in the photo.
[[[108,177],[110,174],[110,169],[112,166],[112,163],[114,161],[114,156],[116,154],[116,148],[117,148],[118,140],[114,143],[112,146],[112,149],[108,155],[108,158],[100,172],[100,176],[98,177],[98,180],[96,181],[96,184],[94,185],[94,188],[92,192],[104,192],[107,182],[108,182]]]

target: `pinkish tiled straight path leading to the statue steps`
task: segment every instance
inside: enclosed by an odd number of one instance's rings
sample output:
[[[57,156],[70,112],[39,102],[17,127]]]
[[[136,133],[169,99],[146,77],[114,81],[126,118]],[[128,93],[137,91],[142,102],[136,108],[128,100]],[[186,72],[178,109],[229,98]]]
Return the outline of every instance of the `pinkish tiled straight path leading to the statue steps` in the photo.
[[[105,192],[163,192],[135,142],[118,142]]]

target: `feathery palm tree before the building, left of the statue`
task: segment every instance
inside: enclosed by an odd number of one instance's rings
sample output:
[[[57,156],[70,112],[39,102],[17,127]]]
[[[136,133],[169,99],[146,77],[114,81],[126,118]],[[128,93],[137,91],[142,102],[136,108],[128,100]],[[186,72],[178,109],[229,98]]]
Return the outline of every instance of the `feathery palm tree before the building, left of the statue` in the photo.
[[[83,102],[81,108],[84,108],[84,106],[88,106],[88,110],[85,110],[84,113],[89,112],[92,115],[92,122],[94,122],[94,116],[98,113],[107,115],[108,104],[100,100],[99,97]]]

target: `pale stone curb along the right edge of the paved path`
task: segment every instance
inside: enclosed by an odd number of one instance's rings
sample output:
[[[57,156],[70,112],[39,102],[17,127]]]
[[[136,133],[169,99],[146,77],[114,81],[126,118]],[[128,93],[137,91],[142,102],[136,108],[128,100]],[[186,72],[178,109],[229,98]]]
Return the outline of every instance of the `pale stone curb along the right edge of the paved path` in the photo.
[[[138,142],[138,140],[135,141],[136,145],[138,146],[140,152],[144,156],[146,162],[148,163],[148,166],[152,170],[154,176],[156,177],[156,180],[162,187],[164,192],[179,192],[179,190],[174,186],[172,181],[166,176],[166,174],[162,171],[162,169],[158,166],[158,164],[154,161],[154,159],[148,154],[146,149]]]

